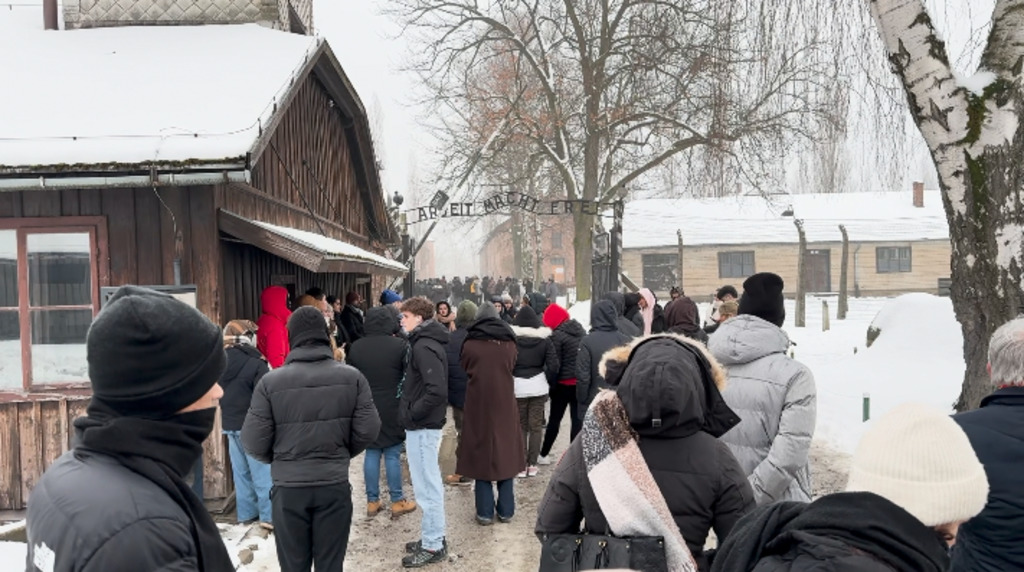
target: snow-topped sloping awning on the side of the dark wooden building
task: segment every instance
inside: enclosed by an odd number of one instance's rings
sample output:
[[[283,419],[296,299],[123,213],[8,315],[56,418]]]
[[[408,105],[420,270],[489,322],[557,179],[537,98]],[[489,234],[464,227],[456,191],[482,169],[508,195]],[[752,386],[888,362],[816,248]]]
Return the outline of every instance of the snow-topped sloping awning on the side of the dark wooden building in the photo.
[[[337,238],[250,220],[220,210],[220,230],[313,272],[347,272],[399,276],[404,264]]]

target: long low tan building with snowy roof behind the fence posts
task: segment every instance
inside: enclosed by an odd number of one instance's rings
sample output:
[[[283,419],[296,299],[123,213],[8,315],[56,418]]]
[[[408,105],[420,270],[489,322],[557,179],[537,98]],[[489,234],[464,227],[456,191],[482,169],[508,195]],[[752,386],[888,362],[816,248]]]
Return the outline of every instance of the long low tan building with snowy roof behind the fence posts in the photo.
[[[913,192],[632,201],[624,218],[623,269],[658,297],[673,285],[698,298],[723,284],[739,290],[756,272],[779,274],[793,296],[800,252],[796,220],[807,233],[809,293],[839,292],[840,225],[849,234],[847,288],[853,296],[935,293],[949,276],[942,197],[920,183]]]

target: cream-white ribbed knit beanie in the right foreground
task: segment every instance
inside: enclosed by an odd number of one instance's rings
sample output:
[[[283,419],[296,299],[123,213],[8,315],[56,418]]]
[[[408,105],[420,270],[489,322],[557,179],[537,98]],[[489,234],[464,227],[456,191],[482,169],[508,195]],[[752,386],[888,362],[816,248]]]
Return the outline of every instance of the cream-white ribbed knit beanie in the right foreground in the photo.
[[[926,526],[938,526],[980,513],[988,500],[988,479],[952,417],[906,403],[876,421],[861,438],[846,490],[873,492]]]

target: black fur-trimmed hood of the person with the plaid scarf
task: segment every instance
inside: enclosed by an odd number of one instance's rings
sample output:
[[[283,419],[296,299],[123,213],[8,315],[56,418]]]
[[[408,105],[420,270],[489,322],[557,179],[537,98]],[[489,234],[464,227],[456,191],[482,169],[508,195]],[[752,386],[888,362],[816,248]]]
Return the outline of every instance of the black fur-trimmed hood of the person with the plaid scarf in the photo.
[[[720,386],[725,375],[707,350],[674,335],[648,336],[602,367],[621,364],[615,389],[629,414],[630,425],[643,436],[655,439],[686,437],[699,432],[720,437],[739,423],[729,408]]]

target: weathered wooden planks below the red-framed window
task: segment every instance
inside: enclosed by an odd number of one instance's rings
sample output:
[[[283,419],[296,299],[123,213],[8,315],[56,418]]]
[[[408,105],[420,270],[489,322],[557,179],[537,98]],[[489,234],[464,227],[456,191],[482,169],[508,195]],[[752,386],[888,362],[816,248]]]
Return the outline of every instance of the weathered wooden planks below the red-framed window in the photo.
[[[43,472],[72,446],[73,422],[85,414],[88,397],[0,401],[0,510],[19,511]],[[227,446],[220,414],[204,444],[203,492],[223,498],[231,491]]]

